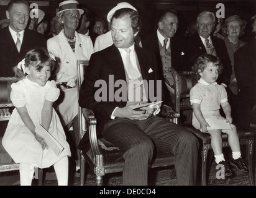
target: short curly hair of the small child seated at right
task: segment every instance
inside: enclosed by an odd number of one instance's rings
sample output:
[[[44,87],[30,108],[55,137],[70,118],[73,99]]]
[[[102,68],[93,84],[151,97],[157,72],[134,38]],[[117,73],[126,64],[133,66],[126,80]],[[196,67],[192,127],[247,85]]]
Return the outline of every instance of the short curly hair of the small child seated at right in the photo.
[[[196,74],[196,77],[200,79],[201,75],[199,75],[198,70],[201,72],[207,67],[208,62],[213,62],[214,66],[219,66],[219,74],[223,71],[223,65],[221,63],[221,59],[213,54],[202,54],[198,56],[196,61],[194,61],[194,65],[192,66],[192,71]]]

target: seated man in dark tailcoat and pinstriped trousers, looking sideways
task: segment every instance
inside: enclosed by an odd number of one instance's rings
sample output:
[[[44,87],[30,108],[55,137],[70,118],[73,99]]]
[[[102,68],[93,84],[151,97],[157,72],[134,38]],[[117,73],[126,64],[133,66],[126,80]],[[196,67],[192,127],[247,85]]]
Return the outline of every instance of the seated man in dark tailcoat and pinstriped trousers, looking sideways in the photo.
[[[178,124],[156,116],[160,110],[157,106],[133,110],[139,103],[155,101],[155,98],[150,97],[152,93],[162,93],[161,86],[158,86],[162,82],[157,81],[160,77],[155,54],[134,45],[134,38],[139,30],[137,11],[124,8],[114,12],[111,19],[114,45],[91,55],[85,80],[81,85],[80,106],[94,111],[98,133],[124,151],[124,185],[147,185],[148,165],[154,148],[174,153],[178,185],[194,185],[198,140]],[[140,82],[135,83],[139,85],[139,92],[136,86],[129,89],[136,81]],[[101,86],[95,86],[99,82],[113,90],[112,94],[105,88],[99,88]],[[153,82],[153,87],[152,84],[147,87],[149,82]],[[116,87],[116,84],[121,87]],[[120,88],[125,91],[114,95]],[[139,93],[136,100],[130,97],[134,94],[134,89]],[[103,95],[99,93],[101,91]],[[146,95],[145,98],[144,93],[149,93],[149,97]],[[157,99],[160,98],[157,96]],[[83,139],[81,147],[85,144]]]

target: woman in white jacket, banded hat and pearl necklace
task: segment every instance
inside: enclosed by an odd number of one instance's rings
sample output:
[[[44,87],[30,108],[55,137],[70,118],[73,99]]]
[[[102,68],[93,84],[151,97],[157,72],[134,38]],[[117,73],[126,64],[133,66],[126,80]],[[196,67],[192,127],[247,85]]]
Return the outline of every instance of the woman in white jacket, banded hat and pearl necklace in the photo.
[[[58,100],[58,108],[63,124],[67,128],[73,124],[75,149],[79,144],[76,62],[78,59],[89,60],[94,53],[91,38],[76,32],[83,12],[83,9],[79,8],[78,1],[61,2],[56,15],[64,28],[57,36],[47,40],[48,51],[60,59],[60,68],[55,80],[60,84],[63,97],[60,96]],[[76,149],[76,171],[79,169],[79,152]]]

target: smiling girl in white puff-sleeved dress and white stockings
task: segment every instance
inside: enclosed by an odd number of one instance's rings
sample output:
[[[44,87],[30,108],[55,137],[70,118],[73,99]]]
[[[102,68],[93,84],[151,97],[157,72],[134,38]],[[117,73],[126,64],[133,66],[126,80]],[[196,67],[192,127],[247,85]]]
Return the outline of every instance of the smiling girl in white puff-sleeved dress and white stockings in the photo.
[[[21,80],[11,85],[11,100],[16,108],[12,112],[2,145],[15,163],[19,163],[22,186],[32,184],[35,167],[48,168],[52,165],[58,185],[68,184],[70,147],[53,108],[53,102],[57,100],[60,90],[54,80],[48,80],[55,64],[54,59],[43,48],[32,49],[14,67]],[[37,134],[39,124],[64,148],[59,155]]]

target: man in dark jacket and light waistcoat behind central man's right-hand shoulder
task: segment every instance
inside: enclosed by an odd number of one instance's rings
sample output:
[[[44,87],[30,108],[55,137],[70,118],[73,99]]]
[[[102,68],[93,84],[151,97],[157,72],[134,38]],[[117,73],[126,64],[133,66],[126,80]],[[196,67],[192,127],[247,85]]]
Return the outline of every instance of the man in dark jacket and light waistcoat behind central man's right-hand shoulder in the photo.
[[[142,47],[155,52],[160,74],[165,80],[165,92],[167,105],[175,103],[174,80],[170,67],[180,71],[183,65],[183,40],[174,38],[178,28],[177,12],[166,9],[160,12],[158,17],[158,29],[142,40]],[[171,101],[171,103],[170,103]]]

